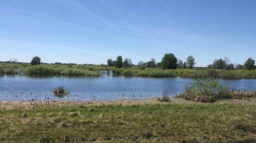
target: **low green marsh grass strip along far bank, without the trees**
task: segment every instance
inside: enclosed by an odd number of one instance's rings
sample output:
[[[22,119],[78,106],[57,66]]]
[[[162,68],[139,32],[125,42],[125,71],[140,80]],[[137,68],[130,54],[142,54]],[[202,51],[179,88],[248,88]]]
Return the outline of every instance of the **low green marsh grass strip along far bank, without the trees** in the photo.
[[[113,71],[114,75],[145,76],[145,77],[188,77],[188,78],[256,78],[256,70],[216,70],[207,68],[163,70],[161,68],[131,67],[128,69],[108,66],[90,65],[37,65],[30,64],[0,64],[2,69],[19,69],[16,74],[63,74],[63,75],[86,75],[100,76],[100,70]],[[12,72],[15,74],[15,72]]]

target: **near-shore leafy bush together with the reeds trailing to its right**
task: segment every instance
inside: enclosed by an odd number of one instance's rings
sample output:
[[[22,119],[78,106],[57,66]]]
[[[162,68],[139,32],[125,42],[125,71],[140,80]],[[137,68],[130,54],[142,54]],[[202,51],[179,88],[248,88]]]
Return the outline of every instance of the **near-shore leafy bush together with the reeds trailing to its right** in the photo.
[[[219,79],[206,78],[198,79],[190,85],[185,85],[184,92],[176,97],[197,102],[215,102],[228,98],[255,98],[256,92],[244,89],[230,90],[228,86],[222,85]]]

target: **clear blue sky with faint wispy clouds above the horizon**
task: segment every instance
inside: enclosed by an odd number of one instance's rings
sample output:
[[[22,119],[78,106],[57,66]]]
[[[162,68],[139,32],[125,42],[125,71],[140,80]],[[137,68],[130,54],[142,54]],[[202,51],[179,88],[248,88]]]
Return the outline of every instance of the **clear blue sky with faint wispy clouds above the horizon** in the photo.
[[[164,53],[206,67],[256,59],[254,0],[0,0],[0,61],[133,64]]]

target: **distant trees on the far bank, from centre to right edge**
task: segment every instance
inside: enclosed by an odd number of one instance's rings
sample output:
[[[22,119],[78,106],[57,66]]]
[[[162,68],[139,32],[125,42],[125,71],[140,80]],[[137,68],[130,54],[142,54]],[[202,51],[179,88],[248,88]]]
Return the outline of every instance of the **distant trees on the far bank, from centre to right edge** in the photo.
[[[108,59],[106,61],[108,63],[108,66],[116,67],[116,68],[129,68],[131,66],[135,66],[132,63],[132,59],[125,58],[124,61],[122,59],[122,56],[117,56],[116,60],[113,61],[112,59]],[[182,60],[179,60],[176,58],[176,56],[173,53],[165,53],[161,62],[156,63],[156,60],[152,58],[148,62],[139,62],[137,64],[138,67],[141,69],[145,69],[147,67],[149,68],[162,68],[162,69],[182,69],[182,68],[189,68],[193,69],[196,65],[195,58],[193,55],[190,55],[187,57],[186,62],[183,62]],[[245,61],[244,65],[231,63],[230,59],[225,57],[224,60],[222,59],[216,59],[214,62],[207,66],[209,69],[226,69],[226,70],[234,70],[234,69],[246,69],[246,70],[254,70],[256,69],[255,61],[252,60],[252,58],[249,58]]]

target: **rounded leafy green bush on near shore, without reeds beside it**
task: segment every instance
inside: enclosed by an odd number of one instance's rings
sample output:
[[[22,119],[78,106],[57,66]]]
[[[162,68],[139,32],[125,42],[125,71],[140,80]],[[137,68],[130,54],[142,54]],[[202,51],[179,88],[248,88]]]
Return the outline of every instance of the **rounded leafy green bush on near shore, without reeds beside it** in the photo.
[[[229,87],[223,86],[219,79],[198,79],[190,85],[185,85],[185,92],[177,95],[179,98],[199,102],[215,102],[223,98],[231,98]]]

